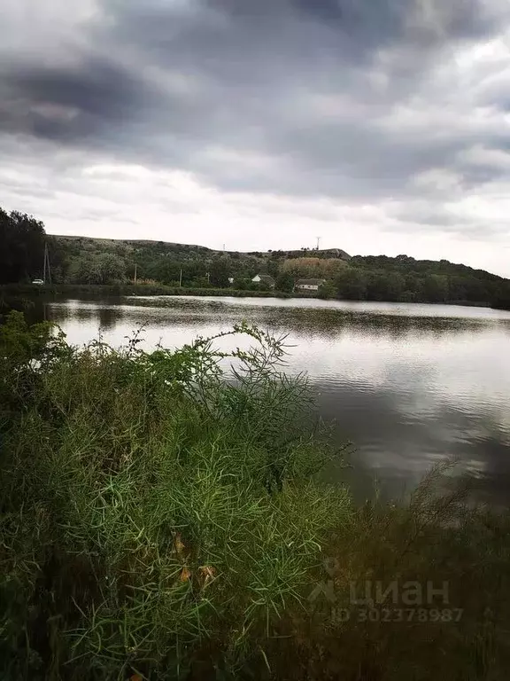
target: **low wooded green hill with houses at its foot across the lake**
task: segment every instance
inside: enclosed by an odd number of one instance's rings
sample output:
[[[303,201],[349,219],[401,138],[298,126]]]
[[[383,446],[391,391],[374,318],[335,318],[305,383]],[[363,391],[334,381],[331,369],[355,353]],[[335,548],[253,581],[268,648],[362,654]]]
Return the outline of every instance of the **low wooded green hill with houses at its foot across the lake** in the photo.
[[[164,241],[51,238],[56,278],[106,284],[133,279],[206,288],[264,288],[251,278],[264,272],[276,288],[291,292],[298,278],[323,278],[320,295],[354,301],[457,302],[506,307],[510,282],[484,270],[447,260],[408,255],[350,256],[344,250],[217,251]]]

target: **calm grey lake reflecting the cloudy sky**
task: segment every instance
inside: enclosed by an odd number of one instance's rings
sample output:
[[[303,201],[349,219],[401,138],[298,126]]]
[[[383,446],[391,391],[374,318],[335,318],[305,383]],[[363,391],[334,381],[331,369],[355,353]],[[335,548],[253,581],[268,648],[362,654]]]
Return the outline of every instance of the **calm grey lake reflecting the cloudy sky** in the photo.
[[[337,442],[354,446],[350,467],[331,467],[328,477],[348,481],[358,498],[375,489],[402,497],[431,466],[454,458],[474,497],[510,500],[510,312],[182,296],[48,302],[41,314],[73,344],[101,333],[118,346],[144,325],[144,347],[174,348],[242,319],[288,334],[285,371],[307,373]]]

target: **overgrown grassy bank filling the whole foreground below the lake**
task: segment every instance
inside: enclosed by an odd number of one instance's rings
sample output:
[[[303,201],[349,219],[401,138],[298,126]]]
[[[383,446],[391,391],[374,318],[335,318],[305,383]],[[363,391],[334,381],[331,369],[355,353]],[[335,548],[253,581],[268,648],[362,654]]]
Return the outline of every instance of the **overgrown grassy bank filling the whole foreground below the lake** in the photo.
[[[1,328],[0,677],[506,678],[506,515],[434,475],[406,506],[321,485],[341,452],[309,387],[238,333],[250,353]],[[379,582],[395,603],[354,603]]]

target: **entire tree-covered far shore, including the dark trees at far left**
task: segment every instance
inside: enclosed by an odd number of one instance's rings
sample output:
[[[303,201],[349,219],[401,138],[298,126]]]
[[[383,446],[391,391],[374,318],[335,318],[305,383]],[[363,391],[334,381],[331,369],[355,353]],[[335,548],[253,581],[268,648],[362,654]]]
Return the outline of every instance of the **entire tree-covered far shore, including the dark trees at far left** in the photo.
[[[251,279],[266,273],[274,278],[280,294],[295,294],[300,278],[319,278],[324,281],[319,292],[322,298],[510,309],[508,279],[445,260],[420,261],[407,255],[350,257],[341,249],[236,253],[162,241],[48,237],[42,223],[29,215],[8,215],[1,209],[0,285],[42,277],[45,245],[51,283],[59,287],[122,290],[137,284],[147,292],[166,289],[172,294],[182,289],[193,294],[225,290],[236,295],[265,294],[271,287]]]

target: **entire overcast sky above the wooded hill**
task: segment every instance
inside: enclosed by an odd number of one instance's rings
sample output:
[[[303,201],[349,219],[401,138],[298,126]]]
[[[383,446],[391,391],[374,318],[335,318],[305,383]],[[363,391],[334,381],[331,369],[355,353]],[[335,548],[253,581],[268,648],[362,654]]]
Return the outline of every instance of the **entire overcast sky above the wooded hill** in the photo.
[[[508,0],[2,0],[0,206],[510,277]]]

